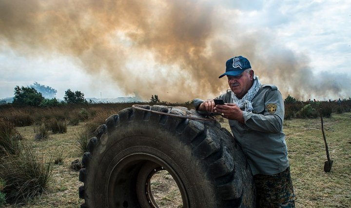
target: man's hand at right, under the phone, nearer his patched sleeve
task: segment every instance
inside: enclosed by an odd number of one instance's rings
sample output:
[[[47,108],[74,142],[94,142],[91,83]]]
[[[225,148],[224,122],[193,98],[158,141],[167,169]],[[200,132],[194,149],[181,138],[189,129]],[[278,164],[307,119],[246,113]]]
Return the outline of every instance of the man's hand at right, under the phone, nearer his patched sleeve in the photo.
[[[236,120],[244,123],[244,117],[241,109],[236,104],[218,104],[214,107],[215,113],[221,113],[223,118]]]

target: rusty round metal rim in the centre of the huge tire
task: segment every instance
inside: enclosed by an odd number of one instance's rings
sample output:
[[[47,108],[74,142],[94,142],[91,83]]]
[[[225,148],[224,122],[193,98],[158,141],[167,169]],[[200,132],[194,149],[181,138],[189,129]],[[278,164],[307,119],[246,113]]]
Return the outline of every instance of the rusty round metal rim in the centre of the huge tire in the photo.
[[[159,208],[152,193],[151,179],[160,170],[167,170],[171,174],[181,194],[183,208],[189,208],[190,202],[186,187],[177,171],[161,158],[147,153],[130,154],[120,159],[114,166],[108,177],[108,182],[105,183],[109,207]],[[120,179],[121,173],[127,177]],[[129,190],[125,190],[125,188],[129,188]],[[125,197],[125,195],[136,196]]]

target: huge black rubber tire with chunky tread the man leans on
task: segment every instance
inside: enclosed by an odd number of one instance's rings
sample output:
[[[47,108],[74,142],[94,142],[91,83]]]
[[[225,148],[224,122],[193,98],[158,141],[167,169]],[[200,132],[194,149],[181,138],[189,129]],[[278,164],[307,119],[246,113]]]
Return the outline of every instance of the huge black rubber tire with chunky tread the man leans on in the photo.
[[[216,121],[172,115],[201,118],[184,107],[139,105],[98,127],[79,172],[81,207],[158,208],[150,179],[163,169],[183,208],[255,206],[253,176],[231,133]]]

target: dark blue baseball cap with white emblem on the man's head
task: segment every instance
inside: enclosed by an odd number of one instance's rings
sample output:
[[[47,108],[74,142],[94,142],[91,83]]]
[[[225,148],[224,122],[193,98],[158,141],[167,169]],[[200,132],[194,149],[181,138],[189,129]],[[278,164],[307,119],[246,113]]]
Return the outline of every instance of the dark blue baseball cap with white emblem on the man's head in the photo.
[[[238,76],[249,68],[251,68],[249,60],[242,56],[235,56],[226,62],[226,72],[218,78],[222,78],[225,75]]]

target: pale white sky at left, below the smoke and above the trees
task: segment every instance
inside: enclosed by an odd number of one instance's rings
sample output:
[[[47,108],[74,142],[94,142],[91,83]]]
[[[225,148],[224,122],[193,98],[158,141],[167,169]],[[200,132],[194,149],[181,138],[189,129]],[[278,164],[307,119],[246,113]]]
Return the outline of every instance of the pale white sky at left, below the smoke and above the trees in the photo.
[[[59,54],[23,57],[11,49],[3,49],[0,53],[0,72],[0,98],[13,97],[15,86],[29,86],[34,82],[56,89],[58,99],[63,99],[68,88],[81,91],[85,98],[124,96],[105,72],[87,74],[72,58]]]

